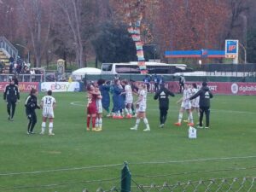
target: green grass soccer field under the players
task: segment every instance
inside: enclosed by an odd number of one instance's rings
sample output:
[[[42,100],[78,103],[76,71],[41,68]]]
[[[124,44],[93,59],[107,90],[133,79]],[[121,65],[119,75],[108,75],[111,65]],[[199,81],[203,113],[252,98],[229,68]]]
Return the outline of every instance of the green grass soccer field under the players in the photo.
[[[151,131],[146,132],[143,122],[138,131],[131,131],[135,119],[109,118],[103,118],[103,131],[86,131],[85,93],[54,96],[54,137],[26,135],[26,94],[21,95],[13,122],[7,120],[5,103],[0,103],[0,191],[119,188],[124,161],[133,187],[256,176],[255,96],[214,96],[210,129],[198,130],[197,139],[188,138],[186,124],[173,125],[181,95],[171,98],[166,126],[161,129],[158,101],[148,94]],[[38,133],[42,121],[41,111],[37,113]],[[255,184],[253,189],[256,191]]]

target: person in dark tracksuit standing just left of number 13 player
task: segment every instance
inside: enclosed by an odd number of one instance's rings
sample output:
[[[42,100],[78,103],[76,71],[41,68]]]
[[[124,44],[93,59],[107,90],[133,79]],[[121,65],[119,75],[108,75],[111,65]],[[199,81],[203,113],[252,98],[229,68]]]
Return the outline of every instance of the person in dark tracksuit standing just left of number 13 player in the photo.
[[[37,114],[36,109],[40,109],[40,106],[38,106],[38,90],[32,89],[30,91],[29,96],[26,97],[25,107],[26,107],[26,116],[28,121],[27,125],[27,134],[34,134],[33,129],[35,125],[37,124]]]

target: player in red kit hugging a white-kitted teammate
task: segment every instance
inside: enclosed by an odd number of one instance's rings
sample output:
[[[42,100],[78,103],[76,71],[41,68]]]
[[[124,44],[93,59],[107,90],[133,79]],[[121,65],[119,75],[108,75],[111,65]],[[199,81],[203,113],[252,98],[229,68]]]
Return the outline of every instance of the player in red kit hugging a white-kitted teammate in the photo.
[[[87,131],[90,131],[90,119],[92,121],[91,131],[96,131],[96,99],[98,96],[100,96],[100,93],[96,92],[95,86],[93,84],[89,84],[87,86],[87,90]]]

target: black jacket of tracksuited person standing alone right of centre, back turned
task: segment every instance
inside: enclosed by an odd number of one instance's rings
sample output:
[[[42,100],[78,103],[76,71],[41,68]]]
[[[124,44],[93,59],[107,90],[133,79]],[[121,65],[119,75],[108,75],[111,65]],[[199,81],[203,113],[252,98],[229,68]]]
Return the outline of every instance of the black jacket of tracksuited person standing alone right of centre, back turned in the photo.
[[[175,96],[170,90],[167,90],[166,87],[160,88],[155,95],[154,100],[159,99],[160,108],[169,108],[169,96]]]

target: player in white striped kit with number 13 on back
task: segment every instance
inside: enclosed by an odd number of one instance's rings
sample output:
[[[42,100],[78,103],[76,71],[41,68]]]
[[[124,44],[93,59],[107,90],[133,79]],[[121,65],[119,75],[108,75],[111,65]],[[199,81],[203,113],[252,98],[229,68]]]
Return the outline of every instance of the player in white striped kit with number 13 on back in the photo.
[[[53,130],[53,119],[55,118],[54,109],[55,109],[55,98],[52,95],[52,91],[47,91],[47,96],[44,96],[41,100],[41,108],[43,108],[43,122],[42,122],[42,131],[41,135],[44,135],[46,121],[49,119],[49,136],[54,136]]]

